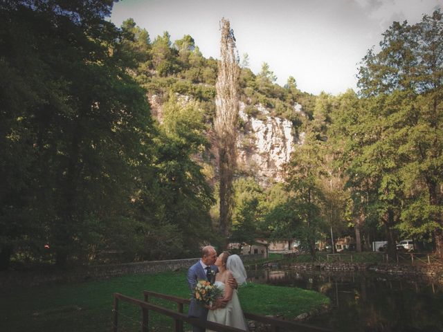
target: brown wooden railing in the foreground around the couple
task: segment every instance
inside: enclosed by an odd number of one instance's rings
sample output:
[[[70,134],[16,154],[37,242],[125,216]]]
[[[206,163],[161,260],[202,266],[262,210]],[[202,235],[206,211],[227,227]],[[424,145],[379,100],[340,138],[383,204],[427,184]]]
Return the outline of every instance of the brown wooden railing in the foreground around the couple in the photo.
[[[213,331],[219,332],[239,332],[242,330],[236,329],[231,326],[217,324],[215,322],[203,322],[194,317],[188,317],[188,315],[183,313],[184,304],[190,304],[190,299],[183,299],[182,297],[175,297],[172,295],[165,295],[161,293],[155,293],[150,291],[143,291],[143,296],[145,301],[139,299],[134,299],[120,293],[114,293],[114,332],[118,332],[118,301],[124,301],[136,306],[140,306],[142,310],[142,332],[148,331],[149,326],[149,311],[156,311],[163,315],[167,315],[174,319],[174,332],[183,332],[183,322],[187,322],[194,326],[199,326],[204,329],[211,329]],[[157,297],[160,299],[166,299],[168,301],[175,302],[177,304],[177,311],[172,311],[163,306],[158,306],[149,302],[150,297]],[[311,326],[308,324],[301,324],[296,322],[290,322],[287,320],[280,320],[277,318],[264,317],[260,315],[254,315],[252,313],[244,313],[244,317],[247,320],[254,320],[256,322],[261,322],[263,324],[269,324],[271,326],[271,331],[279,332],[284,329],[285,331],[298,331],[298,332],[327,332],[331,331],[329,329],[323,329],[316,326]]]

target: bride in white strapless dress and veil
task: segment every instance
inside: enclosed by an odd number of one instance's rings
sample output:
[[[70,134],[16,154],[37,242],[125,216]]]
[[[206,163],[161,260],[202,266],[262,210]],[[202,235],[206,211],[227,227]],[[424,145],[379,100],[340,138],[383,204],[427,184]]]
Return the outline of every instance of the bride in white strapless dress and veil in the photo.
[[[228,284],[228,279],[234,277],[237,284],[246,283],[246,270],[244,269],[242,259],[238,255],[230,255],[229,252],[222,252],[215,265],[219,269],[219,273],[215,275],[215,285],[224,291],[224,300],[228,300],[228,304],[224,308],[217,306],[210,307],[208,312],[208,320],[223,325],[233,326],[237,329],[247,330],[246,322],[242,307],[237,295],[237,290]],[[208,332],[210,330],[206,330]]]

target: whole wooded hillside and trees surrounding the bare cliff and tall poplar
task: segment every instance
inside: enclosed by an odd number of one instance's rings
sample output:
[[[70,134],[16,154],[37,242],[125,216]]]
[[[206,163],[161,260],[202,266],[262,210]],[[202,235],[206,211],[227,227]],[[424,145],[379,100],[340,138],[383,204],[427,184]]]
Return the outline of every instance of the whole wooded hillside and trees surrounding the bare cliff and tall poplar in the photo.
[[[0,268],[196,257],[219,233],[218,60],[150,36],[112,1],[0,5]],[[311,95],[240,61],[244,113],[304,133],[283,182],[235,172],[230,241],[412,237],[443,257],[443,19],[394,22],[359,92]],[[161,107],[154,107],[159,104]],[[302,107],[302,113],[294,105]],[[157,112],[161,110],[161,113]],[[153,112],[155,111],[155,112]],[[239,132],[246,131],[239,120]],[[244,143],[248,149],[253,142]]]

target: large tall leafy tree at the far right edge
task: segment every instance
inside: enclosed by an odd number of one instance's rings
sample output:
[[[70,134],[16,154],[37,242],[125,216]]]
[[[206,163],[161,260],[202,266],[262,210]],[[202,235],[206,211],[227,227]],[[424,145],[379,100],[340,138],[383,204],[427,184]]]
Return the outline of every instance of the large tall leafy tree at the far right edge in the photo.
[[[361,209],[415,239],[433,238],[443,256],[443,19],[395,22],[359,72],[361,113],[349,128],[362,134],[347,153],[352,192]],[[370,135],[368,135],[370,133]],[[350,136],[347,136],[350,140]],[[349,155],[348,155],[349,156]],[[366,210],[366,211],[364,211]],[[393,244],[391,245],[391,251]]]

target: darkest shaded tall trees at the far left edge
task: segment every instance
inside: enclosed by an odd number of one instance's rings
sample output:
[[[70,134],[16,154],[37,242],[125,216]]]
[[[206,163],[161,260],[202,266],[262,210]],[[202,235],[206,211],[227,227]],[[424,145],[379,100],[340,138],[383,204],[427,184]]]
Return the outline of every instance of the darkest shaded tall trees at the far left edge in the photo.
[[[93,252],[105,223],[125,215],[139,174],[150,172],[141,165],[152,160],[152,120],[118,64],[118,30],[102,18],[111,5],[69,6],[1,7],[5,260],[12,246],[38,252],[44,243],[57,264]]]

